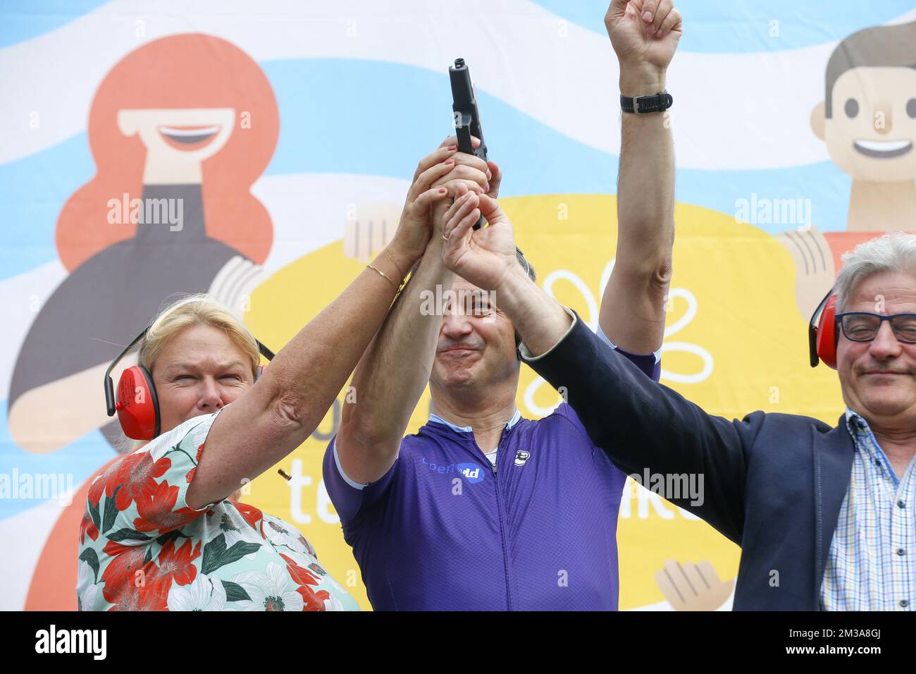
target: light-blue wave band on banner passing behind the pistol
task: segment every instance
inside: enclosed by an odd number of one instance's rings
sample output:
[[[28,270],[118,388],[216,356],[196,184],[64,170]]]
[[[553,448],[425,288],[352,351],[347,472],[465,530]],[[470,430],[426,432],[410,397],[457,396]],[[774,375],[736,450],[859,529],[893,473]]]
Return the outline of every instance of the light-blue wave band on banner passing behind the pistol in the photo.
[[[420,157],[452,131],[442,75],[381,61],[285,60],[261,67],[277,95],[280,137],[265,175],[365,173],[409,179]],[[346,83],[341,86],[341,83]],[[504,196],[616,193],[616,155],[587,147],[478,92],[490,156],[506,174]],[[398,104],[399,105],[396,105]],[[608,134],[617,133],[616,122]],[[85,133],[0,165],[0,279],[57,258],[63,204],[95,172]],[[831,161],[789,169],[677,172],[678,199],[733,215],[737,199],[811,199],[812,224],[845,227],[849,181]],[[779,225],[759,225],[770,233]]]

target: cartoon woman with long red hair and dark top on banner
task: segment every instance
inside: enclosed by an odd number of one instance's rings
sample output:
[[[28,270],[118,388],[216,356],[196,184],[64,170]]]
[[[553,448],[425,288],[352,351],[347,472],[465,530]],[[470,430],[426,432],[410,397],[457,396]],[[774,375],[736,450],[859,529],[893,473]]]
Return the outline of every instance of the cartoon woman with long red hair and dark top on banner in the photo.
[[[108,72],[88,124],[97,172],[57,223],[71,273],[16,359],[16,444],[47,453],[103,427],[114,443],[121,433],[105,415],[104,370],[169,295],[209,292],[241,311],[273,240],[250,187],[278,132],[267,77],[223,39],[157,39]]]

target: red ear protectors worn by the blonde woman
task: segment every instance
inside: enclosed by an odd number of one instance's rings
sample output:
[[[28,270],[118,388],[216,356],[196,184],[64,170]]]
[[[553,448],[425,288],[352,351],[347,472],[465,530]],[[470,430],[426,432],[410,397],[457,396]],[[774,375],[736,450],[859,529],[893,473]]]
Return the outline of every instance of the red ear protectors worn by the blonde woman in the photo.
[[[152,440],[160,432],[159,399],[156,395],[156,386],[153,385],[153,377],[142,365],[127,368],[117,382],[117,397],[115,398],[111,372],[118,361],[124,358],[125,353],[146,336],[148,329],[149,327],[134,337],[134,341],[128,344],[108,366],[108,370],[105,370],[105,406],[108,409],[108,416],[114,416],[116,411],[125,436],[135,440]],[[257,348],[267,360],[274,359],[274,352],[260,342],[257,342]],[[266,365],[257,366],[255,381],[266,367]]]

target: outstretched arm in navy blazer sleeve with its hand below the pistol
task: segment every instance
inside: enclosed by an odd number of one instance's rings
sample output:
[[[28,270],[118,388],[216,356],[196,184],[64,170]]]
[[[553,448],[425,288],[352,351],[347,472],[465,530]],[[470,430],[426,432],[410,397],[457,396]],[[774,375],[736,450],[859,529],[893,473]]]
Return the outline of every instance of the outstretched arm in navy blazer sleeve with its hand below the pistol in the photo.
[[[471,227],[480,212],[489,227]],[[468,194],[445,215],[446,265],[496,293],[496,303],[522,338],[522,358],[551,386],[561,387],[597,447],[627,473],[703,476],[702,503],[672,499],[731,540],[744,525],[747,454],[764,414],[730,422],[706,414],[573,320],[514,261],[507,216],[486,196]]]

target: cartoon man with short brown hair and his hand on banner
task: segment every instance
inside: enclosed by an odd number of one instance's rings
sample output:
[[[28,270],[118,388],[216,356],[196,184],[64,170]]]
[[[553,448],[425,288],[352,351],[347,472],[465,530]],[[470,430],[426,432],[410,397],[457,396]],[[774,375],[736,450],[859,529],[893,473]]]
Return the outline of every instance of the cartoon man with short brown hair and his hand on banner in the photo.
[[[846,250],[884,232],[916,230],[916,22],[853,33],[837,45],[825,79],[811,127],[853,183],[845,231],[780,234],[796,261],[806,318],[830,290]]]

